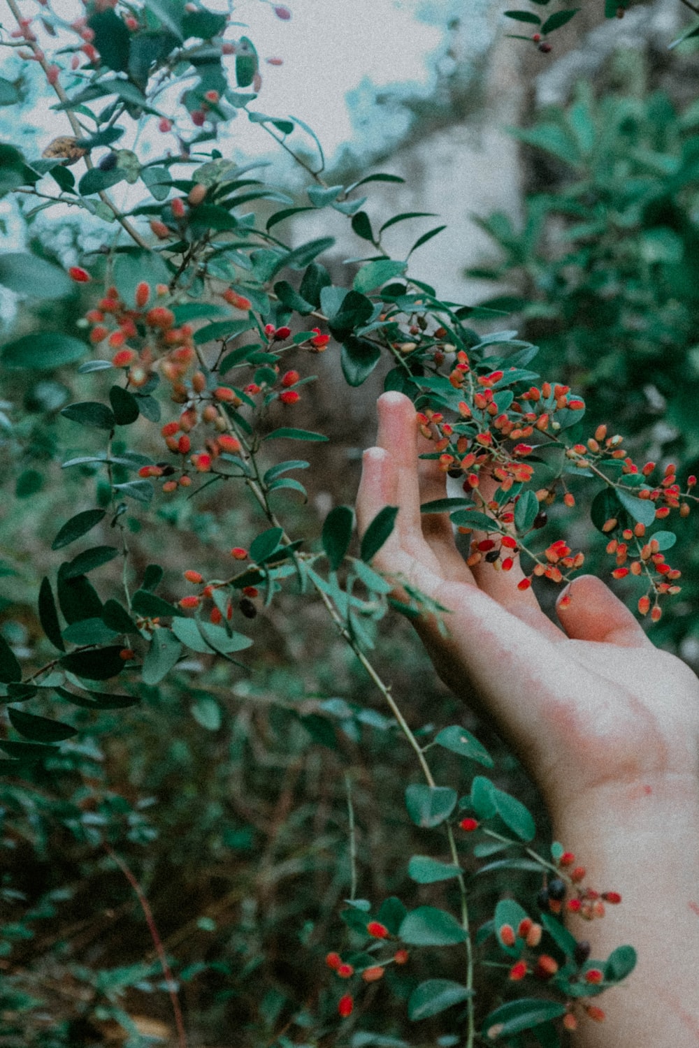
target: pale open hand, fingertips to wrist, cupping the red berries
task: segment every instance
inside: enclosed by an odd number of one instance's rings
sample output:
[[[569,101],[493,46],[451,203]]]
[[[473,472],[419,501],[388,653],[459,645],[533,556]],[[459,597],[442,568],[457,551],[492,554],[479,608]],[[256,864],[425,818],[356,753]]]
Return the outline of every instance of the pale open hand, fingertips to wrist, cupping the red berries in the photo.
[[[416,629],[444,682],[492,718],[551,807],[618,783],[648,789],[678,778],[696,790],[699,681],[656,649],[631,611],[598,578],[583,575],[554,625],[518,563],[509,572],[469,569],[449,517],[420,515],[420,502],[445,496],[445,475],[419,435],[408,397],[378,400],[377,446],[364,456],[359,530],[385,505],[399,507],[395,529],[375,558],[450,610],[443,636],[435,616]],[[398,594],[399,594],[398,589]],[[652,787],[651,787],[652,788]]]

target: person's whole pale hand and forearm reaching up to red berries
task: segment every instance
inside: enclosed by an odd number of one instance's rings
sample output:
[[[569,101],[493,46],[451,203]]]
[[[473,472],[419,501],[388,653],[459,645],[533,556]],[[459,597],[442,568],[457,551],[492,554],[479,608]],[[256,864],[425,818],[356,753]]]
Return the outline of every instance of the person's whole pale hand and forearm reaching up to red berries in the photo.
[[[445,495],[444,474],[418,459],[430,450],[411,401],[385,393],[359,530],[399,507],[374,564],[449,609],[446,637],[434,616],[416,623],[437,673],[518,755],[586,882],[622,896],[602,919],[569,918],[595,958],[622,943],[638,952],[626,983],[595,999],[606,1020],[581,1021],[575,1048],[699,1046],[699,680],[599,578],[577,577],[567,606],[561,594],[555,625],[532,589],[518,590],[519,562],[468,568],[449,518],[419,511]]]

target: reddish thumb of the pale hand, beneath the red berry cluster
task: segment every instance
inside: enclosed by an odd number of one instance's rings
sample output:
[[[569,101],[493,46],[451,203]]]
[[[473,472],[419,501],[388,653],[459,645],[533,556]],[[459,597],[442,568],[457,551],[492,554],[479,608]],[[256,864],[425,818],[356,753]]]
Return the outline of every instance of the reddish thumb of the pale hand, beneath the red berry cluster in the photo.
[[[621,648],[651,641],[625,604],[595,575],[580,575],[556,601],[555,613],[571,640],[596,640]]]

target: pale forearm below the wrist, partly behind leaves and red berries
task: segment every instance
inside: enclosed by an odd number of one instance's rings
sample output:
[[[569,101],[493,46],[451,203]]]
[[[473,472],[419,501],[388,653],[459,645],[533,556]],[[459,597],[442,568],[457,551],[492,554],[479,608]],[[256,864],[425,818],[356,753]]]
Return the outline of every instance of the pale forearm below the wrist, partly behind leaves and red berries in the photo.
[[[621,894],[570,931],[604,960],[629,943],[638,964],[595,999],[604,1023],[581,1022],[575,1048],[699,1045],[699,783],[692,778],[604,785],[552,805],[554,833],[587,868],[586,882]]]

